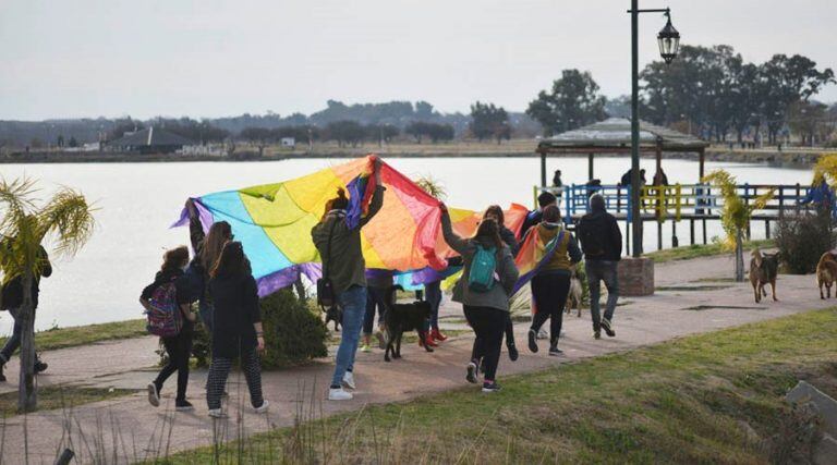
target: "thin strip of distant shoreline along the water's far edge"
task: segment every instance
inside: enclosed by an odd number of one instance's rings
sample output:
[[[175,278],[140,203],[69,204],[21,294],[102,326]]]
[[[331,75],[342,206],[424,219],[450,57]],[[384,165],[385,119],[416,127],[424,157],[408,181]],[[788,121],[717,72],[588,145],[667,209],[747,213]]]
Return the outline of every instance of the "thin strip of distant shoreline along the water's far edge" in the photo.
[[[338,159],[356,158],[366,154],[378,154],[384,158],[538,158],[532,150],[521,150],[509,147],[504,151],[497,147],[496,151],[387,151],[369,147],[365,149],[352,149],[348,151],[314,151],[270,154],[258,157],[256,154],[244,152],[232,158],[218,156],[184,156],[177,154],[123,154],[123,152],[31,152],[28,155],[14,155],[0,157],[0,164],[29,164],[29,163],[157,163],[157,162],[241,162],[241,161],[282,161],[300,159]],[[740,163],[767,163],[778,168],[811,168],[816,163],[823,151],[775,151],[775,150],[747,150],[730,151],[727,149],[707,149],[706,161],[740,162]],[[584,155],[550,155],[549,158],[584,157]],[[596,158],[626,158],[626,155],[596,154]],[[654,158],[653,155],[643,155],[643,158]],[[665,159],[683,159],[698,161],[698,154],[664,152]]]

